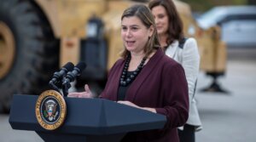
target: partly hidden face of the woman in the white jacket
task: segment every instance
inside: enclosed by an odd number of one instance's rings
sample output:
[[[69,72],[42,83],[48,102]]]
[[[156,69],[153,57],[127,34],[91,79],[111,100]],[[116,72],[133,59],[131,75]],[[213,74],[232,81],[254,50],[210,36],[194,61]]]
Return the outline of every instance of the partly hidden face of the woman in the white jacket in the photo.
[[[154,7],[151,11],[154,15],[154,22],[156,24],[157,33],[159,35],[165,35],[169,26],[169,17],[166,13],[165,7],[159,5]]]

